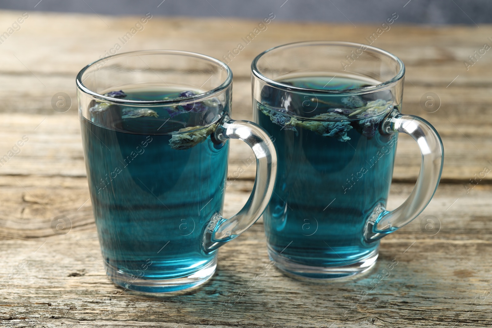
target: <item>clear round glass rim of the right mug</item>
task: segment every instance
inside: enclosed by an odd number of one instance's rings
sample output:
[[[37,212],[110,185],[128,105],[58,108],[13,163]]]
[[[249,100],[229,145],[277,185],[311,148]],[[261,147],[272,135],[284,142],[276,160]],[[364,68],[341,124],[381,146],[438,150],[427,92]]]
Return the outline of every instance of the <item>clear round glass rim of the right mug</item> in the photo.
[[[352,47],[352,48],[362,48],[366,47],[366,50],[370,50],[375,53],[379,53],[381,55],[384,55],[388,58],[388,60],[392,59],[396,61],[400,65],[400,69],[398,73],[391,79],[382,82],[377,85],[371,85],[367,87],[362,87],[362,88],[354,88],[354,89],[342,89],[342,90],[327,90],[327,89],[308,89],[308,88],[301,88],[301,87],[295,87],[291,86],[285,83],[278,82],[276,80],[272,80],[265,75],[263,75],[260,70],[257,67],[258,60],[260,60],[264,55],[268,54],[271,51],[284,48],[284,47],[291,47],[291,46],[310,46],[310,45],[325,45],[325,46],[345,46],[345,47]],[[364,51],[366,51],[364,50]],[[274,68],[275,69],[275,68]],[[403,61],[400,60],[397,56],[393,55],[392,53],[368,46],[367,44],[363,43],[356,43],[356,42],[348,42],[348,41],[330,41],[330,40],[318,40],[318,41],[300,41],[300,42],[291,42],[291,43],[286,43],[282,44],[270,49],[265,50],[261,54],[255,57],[255,59],[251,62],[251,73],[258,79],[264,81],[268,85],[278,88],[278,89],[288,89],[292,91],[300,91],[300,92],[309,92],[309,93],[320,93],[320,94],[344,94],[344,93],[369,93],[369,92],[374,92],[378,91],[381,89],[387,88],[389,85],[392,85],[398,81],[400,81],[403,76],[405,75],[405,65],[403,64]]]

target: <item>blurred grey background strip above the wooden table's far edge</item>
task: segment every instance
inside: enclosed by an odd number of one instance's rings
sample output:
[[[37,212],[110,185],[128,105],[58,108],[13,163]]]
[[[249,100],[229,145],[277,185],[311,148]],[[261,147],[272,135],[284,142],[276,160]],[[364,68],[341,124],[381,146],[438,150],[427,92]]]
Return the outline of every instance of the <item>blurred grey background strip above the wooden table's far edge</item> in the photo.
[[[0,0],[0,9],[254,19],[275,12],[284,21],[347,24],[383,22],[397,12],[398,23],[492,23],[492,0]]]

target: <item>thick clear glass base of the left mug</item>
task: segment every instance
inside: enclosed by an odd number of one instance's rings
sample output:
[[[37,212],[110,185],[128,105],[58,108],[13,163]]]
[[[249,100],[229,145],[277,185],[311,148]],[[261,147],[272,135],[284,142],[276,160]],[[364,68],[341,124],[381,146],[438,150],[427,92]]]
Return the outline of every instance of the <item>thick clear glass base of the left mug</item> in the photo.
[[[123,273],[117,268],[106,267],[106,272],[115,284],[125,290],[143,293],[172,293],[197,287],[212,278],[217,267],[217,258],[214,257],[209,264],[186,277],[171,279],[145,279],[136,278]]]

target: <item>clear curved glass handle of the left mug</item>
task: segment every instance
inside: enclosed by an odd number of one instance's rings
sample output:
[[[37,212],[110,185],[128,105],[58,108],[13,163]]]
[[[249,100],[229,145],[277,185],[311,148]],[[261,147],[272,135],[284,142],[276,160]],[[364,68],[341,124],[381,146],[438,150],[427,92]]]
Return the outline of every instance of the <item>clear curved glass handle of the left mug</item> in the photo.
[[[224,115],[212,138],[218,143],[239,139],[251,147],[256,156],[256,179],[249,199],[236,215],[225,219],[220,213],[215,213],[212,217],[203,238],[207,253],[238,237],[258,220],[272,198],[277,176],[277,150],[267,132],[257,124]]]

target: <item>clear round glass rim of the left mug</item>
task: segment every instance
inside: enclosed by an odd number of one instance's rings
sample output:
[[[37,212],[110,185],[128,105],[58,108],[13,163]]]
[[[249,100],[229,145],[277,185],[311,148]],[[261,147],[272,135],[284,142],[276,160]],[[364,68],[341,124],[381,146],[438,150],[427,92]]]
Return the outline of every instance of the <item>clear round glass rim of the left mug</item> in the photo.
[[[180,98],[174,98],[174,99],[167,99],[167,100],[129,100],[129,99],[120,99],[120,98],[113,98],[113,97],[108,97],[105,96],[104,94],[97,93],[95,91],[92,91],[91,89],[87,88],[84,85],[84,82],[82,80],[82,76],[84,73],[93,65],[101,62],[101,61],[107,61],[109,59],[114,59],[118,57],[127,57],[131,55],[181,55],[181,56],[189,56],[189,57],[194,57],[194,58],[199,58],[202,60],[208,60],[211,61],[218,66],[220,66],[222,69],[224,69],[227,72],[227,77],[225,78],[225,81],[222,82],[219,86],[215,87],[214,89],[190,96],[190,97],[180,97]],[[145,62],[144,62],[145,63]],[[149,67],[150,68],[150,67]],[[152,70],[152,68],[151,68]],[[116,55],[111,55],[108,57],[101,58],[99,60],[92,61],[88,65],[86,65],[84,68],[82,68],[79,73],[77,74],[77,77],[75,78],[75,82],[77,85],[77,89],[81,90],[82,92],[91,95],[92,97],[101,100],[105,103],[113,103],[113,104],[118,104],[118,105],[132,105],[132,106],[172,106],[172,105],[177,105],[177,104],[187,104],[187,103],[194,103],[197,101],[205,100],[210,98],[212,95],[226,89],[228,86],[231,85],[232,83],[232,71],[229,66],[227,66],[224,62],[217,60],[213,57],[199,54],[199,53],[194,53],[190,51],[183,51],[183,50],[136,50],[136,51],[128,51],[124,52],[121,54],[116,54]]]

